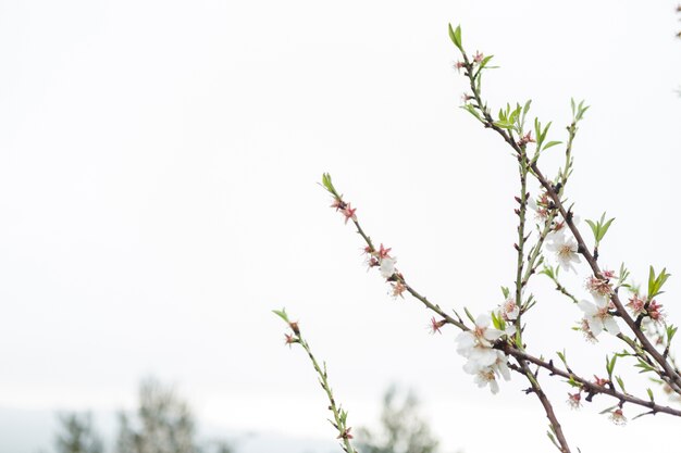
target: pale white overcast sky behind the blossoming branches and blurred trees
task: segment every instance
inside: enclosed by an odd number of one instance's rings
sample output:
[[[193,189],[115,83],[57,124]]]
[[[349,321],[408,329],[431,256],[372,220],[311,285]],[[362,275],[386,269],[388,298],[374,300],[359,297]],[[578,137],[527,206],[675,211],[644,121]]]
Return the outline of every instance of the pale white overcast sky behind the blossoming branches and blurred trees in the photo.
[[[430,314],[386,294],[317,183],[332,173],[433,301],[500,302],[516,167],[457,108],[465,81],[446,25],[461,23],[468,49],[502,66],[486,78],[491,105],[532,98],[553,139],[565,138],[570,97],[592,105],[568,196],[582,218],[617,217],[603,263],[624,260],[639,280],[649,264],[678,275],[674,8],[0,2],[0,405],[129,406],[153,374],[211,423],[333,436],[309,364],[270,313],[286,306],[329,361],[351,425],[375,419],[397,380],[419,390],[449,450],[506,439],[508,452],[548,451],[525,383],[475,388],[454,332],[429,336]],[[602,373],[620,347],[587,348],[569,329],[579,311],[545,281],[534,289],[530,350],[566,347],[585,375]],[[674,275],[661,300],[677,323],[679,289]],[[595,415],[609,402],[573,413],[566,387],[546,386],[583,452],[659,448],[669,436],[641,432],[678,426],[617,428]]]

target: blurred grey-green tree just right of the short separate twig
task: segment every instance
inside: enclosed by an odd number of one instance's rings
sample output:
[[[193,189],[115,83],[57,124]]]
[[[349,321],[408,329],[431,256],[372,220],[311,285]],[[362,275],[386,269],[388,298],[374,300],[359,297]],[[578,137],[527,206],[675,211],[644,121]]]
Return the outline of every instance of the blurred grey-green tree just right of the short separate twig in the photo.
[[[413,391],[404,397],[391,386],[383,397],[381,431],[368,428],[358,431],[362,453],[435,453],[438,441],[419,414],[419,400]]]

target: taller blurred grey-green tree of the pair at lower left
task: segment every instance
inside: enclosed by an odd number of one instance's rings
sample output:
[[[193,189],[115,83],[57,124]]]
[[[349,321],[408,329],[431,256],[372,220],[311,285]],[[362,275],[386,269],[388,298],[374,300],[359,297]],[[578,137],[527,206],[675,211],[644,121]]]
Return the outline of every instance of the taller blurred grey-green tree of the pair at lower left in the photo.
[[[120,414],[116,453],[233,453],[225,442],[199,445],[188,404],[154,379],[139,387],[136,419]]]

